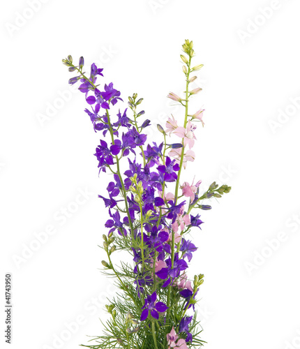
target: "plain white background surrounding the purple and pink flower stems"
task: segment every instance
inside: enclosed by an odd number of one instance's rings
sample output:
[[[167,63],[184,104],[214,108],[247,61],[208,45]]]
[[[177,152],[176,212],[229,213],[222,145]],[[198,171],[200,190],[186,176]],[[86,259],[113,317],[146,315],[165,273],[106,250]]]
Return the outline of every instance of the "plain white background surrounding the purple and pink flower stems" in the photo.
[[[204,64],[192,106],[206,111],[184,179],[232,186],[193,233],[189,273],[205,275],[205,348],[300,348],[299,1],[36,0],[34,11],[29,3],[6,1],[1,11],[1,348],[5,273],[9,348],[87,343],[101,334],[113,291],[98,269],[107,219],[97,198],[107,177],[98,179],[93,156],[100,134],[61,59],[95,61],[125,100],[137,91],[155,129],[166,115],[182,117],[165,97],[184,91],[185,38]],[[74,213],[63,220],[68,205]],[[36,245],[49,225],[53,234]]]

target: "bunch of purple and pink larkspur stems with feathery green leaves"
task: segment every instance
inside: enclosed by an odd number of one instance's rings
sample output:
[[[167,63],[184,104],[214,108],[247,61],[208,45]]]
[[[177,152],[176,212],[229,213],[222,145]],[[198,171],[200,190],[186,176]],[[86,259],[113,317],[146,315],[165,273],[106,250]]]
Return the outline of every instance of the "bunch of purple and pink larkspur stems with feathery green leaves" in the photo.
[[[110,215],[103,235],[107,258],[102,263],[104,273],[116,278],[122,292],[106,306],[111,318],[103,324],[104,334],[89,348],[186,349],[204,343],[198,336],[195,311],[203,275],[194,276],[193,281],[188,278],[188,262],[197,250],[188,233],[203,223],[197,211],[211,209],[204,200],[220,198],[230,187],[213,182],[200,193],[200,180],[192,184],[182,180],[181,171],[195,160],[195,123],[204,125],[203,110],[191,114],[188,109],[189,98],[201,90],[190,91],[190,82],[196,79],[191,73],[202,64],[191,65],[192,41],[185,41],[183,52],[186,91],[182,98],[173,93],[168,97],[183,106],[184,118],[178,121],[172,116],[165,128],[157,125],[163,138],[160,144],[147,143],[144,128],[151,120],[140,121],[144,110],[138,111],[143,98],[128,97],[130,113],[125,107],[114,111],[114,105],[123,100],[112,82],[104,89],[97,84],[103,69],[92,64],[87,77],[83,57],[78,66],[71,56],[63,59],[70,72],[79,73],[69,83],[80,82],[78,88],[89,104],[85,112],[93,129],[103,135],[95,154],[99,173],[109,171],[114,178],[107,184],[108,193],[99,195]],[[132,262],[121,261],[117,267],[112,253],[120,250],[127,251]]]

